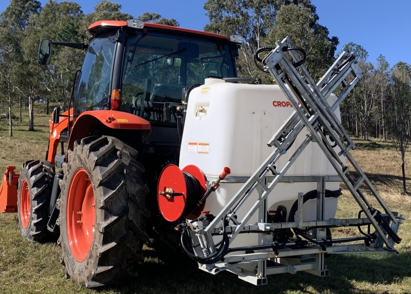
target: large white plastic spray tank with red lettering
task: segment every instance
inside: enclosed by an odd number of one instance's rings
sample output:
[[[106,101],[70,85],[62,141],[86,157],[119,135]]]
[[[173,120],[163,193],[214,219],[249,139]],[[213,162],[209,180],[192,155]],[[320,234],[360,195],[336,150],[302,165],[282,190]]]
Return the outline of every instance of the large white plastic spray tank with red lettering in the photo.
[[[327,99],[330,104],[335,100],[335,95]],[[180,168],[195,165],[209,182],[215,180],[224,167],[230,168],[229,176],[234,182],[239,177],[251,176],[273,151],[274,147],[268,147],[267,143],[294,111],[277,85],[235,84],[217,78],[206,78],[204,85],[193,89],[186,107]],[[339,109],[335,113],[340,118]],[[306,134],[308,131],[305,129],[300,132],[287,154],[276,163],[278,166],[284,165],[306,138]],[[341,159],[344,160],[343,157]],[[337,175],[320,147],[313,142],[309,143],[285,174],[308,175]],[[213,215],[218,214],[244,182],[221,183],[216,192],[207,198],[204,210]],[[278,183],[267,198],[268,210],[276,210],[278,205],[284,205],[289,211],[299,192],[305,194],[316,189],[316,181]],[[328,182],[326,189],[337,190],[339,183]],[[251,203],[257,196],[254,191],[254,196],[247,201]],[[325,220],[335,217],[337,202],[337,198],[325,198]],[[248,211],[250,205],[246,202],[236,211],[239,218]],[[315,200],[305,203],[303,220],[316,220],[316,215]],[[256,221],[257,213],[250,223]],[[251,235],[238,236],[235,245],[256,245],[257,236],[251,238]]]

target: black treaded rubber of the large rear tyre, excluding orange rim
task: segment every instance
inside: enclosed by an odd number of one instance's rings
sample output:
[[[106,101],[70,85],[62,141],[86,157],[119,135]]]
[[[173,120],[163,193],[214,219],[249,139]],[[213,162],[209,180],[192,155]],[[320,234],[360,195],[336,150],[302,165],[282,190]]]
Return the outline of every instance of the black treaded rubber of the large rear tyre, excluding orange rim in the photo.
[[[61,262],[66,275],[87,288],[118,282],[125,273],[134,275],[135,265],[143,261],[142,245],[148,241],[144,229],[149,215],[144,208],[148,188],[142,182],[144,168],[133,157],[137,157],[136,150],[107,136],[76,141],[68,151],[60,201]],[[83,261],[73,257],[66,228],[70,178],[79,169],[90,176],[96,204],[93,244]]]

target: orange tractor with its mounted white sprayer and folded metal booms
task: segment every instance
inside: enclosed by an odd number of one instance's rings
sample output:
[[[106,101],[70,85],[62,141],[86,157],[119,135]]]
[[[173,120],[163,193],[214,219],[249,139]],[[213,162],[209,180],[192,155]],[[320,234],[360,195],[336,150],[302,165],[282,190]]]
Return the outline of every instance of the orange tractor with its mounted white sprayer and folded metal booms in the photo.
[[[53,110],[46,158],[25,162],[20,173],[8,166],[0,188],[1,212],[17,212],[28,241],[57,240],[72,280],[91,288],[136,275],[150,239],[185,251],[201,270],[229,270],[256,285],[270,273],[327,275],[329,252],[394,252],[402,216],[379,196],[386,211],[374,210],[359,192],[370,184],[365,175],[354,180],[344,170],[351,157],[341,150],[354,145],[339,127],[338,104],[362,75],[352,55],[316,85],[304,72],[305,51],[285,39],[254,56],[275,77],[261,85],[237,76],[240,36],[139,20],[100,21],[89,32],[90,44],[40,42],[42,65],[53,46],[86,55],[68,110]],[[340,84],[348,92],[331,94]],[[328,104],[313,106],[320,102],[311,93]],[[342,180],[366,218],[333,221]],[[372,225],[376,233],[337,250],[330,228],[342,225]],[[311,263],[287,259],[310,254]]]

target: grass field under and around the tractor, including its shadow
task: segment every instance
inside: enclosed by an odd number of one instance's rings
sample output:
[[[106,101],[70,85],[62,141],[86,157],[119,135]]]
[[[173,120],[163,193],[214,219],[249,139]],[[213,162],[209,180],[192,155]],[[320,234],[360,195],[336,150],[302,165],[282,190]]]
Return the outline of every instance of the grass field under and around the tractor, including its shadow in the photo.
[[[18,170],[29,159],[45,157],[48,119],[43,104],[36,104],[35,132],[27,131],[28,118],[13,127],[14,137],[8,137],[8,125],[0,120],[0,170],[16,165]],[[16,112],[17,113],[17,112]],[[377,144],[377,145],[375,145]],[[395,149],[389,145],[360,142],[352,151],[388,206],[409,219],[411,200],[401,195],[401,169]],[[411,155],[407,154],[407,174],[411,174]],[[407,178],[409,191],[410,178]],[[347,193],[340,197],[337,217],[355,218],[358,205]],[[178,264],[165,264],[156,252],[144,247],[145,264],[139,276],[123,281],[116,288],[88,290],[65,278],[60,265],[61,250],[53,243],[31,244],[20,236],[16,214],[0,215],[0,293],[323,293],[323,294],[399,294],[411,293],[411,224],[400,229],[403,241],[396,248],[400,256],[387,254],[332,255],[326,260],[330,276],[320,278],[308,273],[269,276],[268,285],[256,287],[222,272],[215,276],[197,269],[194,262],[183,259]],[[353,229],[339,229],[337,234],[351,236]]]

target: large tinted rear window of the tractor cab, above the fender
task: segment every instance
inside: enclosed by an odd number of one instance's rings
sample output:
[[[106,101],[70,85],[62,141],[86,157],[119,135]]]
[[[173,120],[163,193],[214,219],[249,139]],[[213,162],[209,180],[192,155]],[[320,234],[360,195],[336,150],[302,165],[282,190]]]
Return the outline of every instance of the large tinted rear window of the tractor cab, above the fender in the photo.
[[[175,34],[129,34],[122,70],[121,110],[150,121],[176,123],[171,106],[182,103],[184,88],[204,84],[209,76],[235,76],[228,42],[216,42]],[[171,114],[166,115],[168,108]]]

